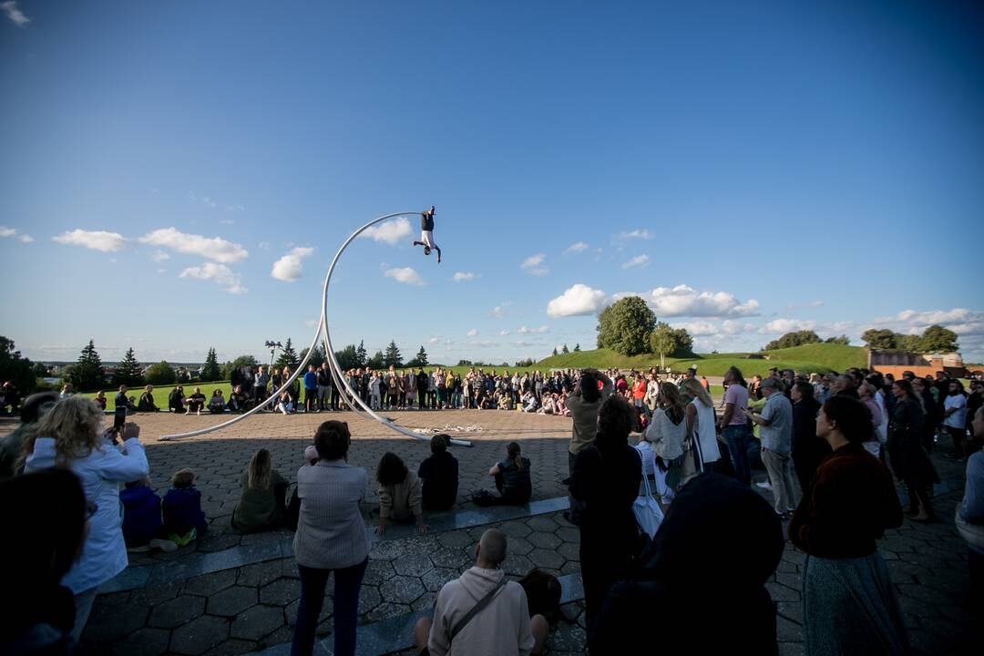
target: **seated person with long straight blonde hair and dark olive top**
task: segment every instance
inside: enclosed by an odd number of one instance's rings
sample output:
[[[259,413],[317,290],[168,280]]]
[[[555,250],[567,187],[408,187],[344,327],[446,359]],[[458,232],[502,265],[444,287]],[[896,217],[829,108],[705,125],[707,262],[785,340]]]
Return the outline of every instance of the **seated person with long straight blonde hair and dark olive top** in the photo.
[[[258,533],[277,528],[286,511],[287,481],[274,469],[274,458],[259,449],[239,477],[242,493],[232,511],[232,528],[240,533]]]

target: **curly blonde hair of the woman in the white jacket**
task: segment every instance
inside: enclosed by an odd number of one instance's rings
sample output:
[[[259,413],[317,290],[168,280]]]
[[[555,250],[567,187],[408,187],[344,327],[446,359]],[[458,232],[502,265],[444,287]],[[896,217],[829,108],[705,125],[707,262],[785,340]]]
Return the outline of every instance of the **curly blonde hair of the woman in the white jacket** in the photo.
[[[88,457],[102,440],[102,409],[90,398],[66,396],[42,415],[28,431],[18,467],[34,452],[37,438],[53,438],[59,463]]]

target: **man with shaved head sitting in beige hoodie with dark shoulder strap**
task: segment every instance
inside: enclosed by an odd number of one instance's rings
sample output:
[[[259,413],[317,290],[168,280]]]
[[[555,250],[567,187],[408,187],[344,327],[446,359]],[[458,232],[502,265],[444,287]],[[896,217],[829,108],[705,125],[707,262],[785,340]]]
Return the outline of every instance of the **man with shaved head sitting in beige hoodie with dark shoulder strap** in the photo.
[[[508,580],[500,568],[507,549],[506,534],[499,529],[482,534],[475,567],[445,583],[434,604],[434,619],[421,618],[413,627],[421,655],[540,653],[549,626],[542,615],[529,617],[523,586]],[[478,604],[481,612],[472,613]]]

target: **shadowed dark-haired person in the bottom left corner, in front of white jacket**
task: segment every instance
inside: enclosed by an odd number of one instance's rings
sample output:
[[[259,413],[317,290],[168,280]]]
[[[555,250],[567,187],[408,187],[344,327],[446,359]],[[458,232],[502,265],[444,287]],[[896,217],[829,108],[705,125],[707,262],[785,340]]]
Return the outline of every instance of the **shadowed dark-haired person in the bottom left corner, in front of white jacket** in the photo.
[[[71,654],[76,607],[62,579],[79,560],[89,528],[91,505],[82,485],[60,468],[10,478],[0,481],[0,507],[17,531],[17,539],[0,541],[10,602],[0,624],[0,654]]]

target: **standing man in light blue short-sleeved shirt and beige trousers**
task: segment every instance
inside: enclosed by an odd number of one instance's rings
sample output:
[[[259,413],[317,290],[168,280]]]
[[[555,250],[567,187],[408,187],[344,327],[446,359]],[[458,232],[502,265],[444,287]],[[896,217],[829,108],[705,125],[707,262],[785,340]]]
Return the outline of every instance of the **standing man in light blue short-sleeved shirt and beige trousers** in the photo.
[[[781,391],[782,384],[767,378],[762,382],[766,406],[762,414],[749,410],[746,414],[759,425],[762,437],[762,461],[769,472],[769,484],[775,503],[775,514],[783,519],[796,508],[800,498],[800,486],[793,474],[793,407]]]

